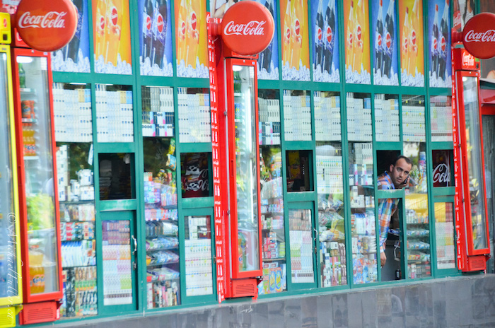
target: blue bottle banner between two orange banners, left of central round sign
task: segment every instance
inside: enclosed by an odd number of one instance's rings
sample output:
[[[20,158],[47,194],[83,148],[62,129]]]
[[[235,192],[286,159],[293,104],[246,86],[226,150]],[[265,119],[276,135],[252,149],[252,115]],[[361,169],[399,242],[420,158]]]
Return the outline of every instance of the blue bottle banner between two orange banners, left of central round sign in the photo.
[[[170,0],[139,0],[141,75],[173,76]]]

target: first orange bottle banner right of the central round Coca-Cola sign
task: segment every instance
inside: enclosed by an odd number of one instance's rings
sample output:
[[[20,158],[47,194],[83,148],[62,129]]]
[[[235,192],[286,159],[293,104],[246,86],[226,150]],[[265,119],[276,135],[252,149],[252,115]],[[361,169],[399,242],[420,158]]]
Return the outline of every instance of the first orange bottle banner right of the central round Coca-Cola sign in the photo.
[[[310,81],[308,2],[280,0],[280,8],[282,78],[289,81]]]

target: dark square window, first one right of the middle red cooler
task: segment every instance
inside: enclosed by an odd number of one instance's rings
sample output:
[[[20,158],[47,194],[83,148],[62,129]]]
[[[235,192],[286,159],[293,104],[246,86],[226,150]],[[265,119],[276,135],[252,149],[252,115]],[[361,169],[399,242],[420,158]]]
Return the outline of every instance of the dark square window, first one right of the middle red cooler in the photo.
[[[312,151],[286,151],[288,192],[313,191],[311,158]]]

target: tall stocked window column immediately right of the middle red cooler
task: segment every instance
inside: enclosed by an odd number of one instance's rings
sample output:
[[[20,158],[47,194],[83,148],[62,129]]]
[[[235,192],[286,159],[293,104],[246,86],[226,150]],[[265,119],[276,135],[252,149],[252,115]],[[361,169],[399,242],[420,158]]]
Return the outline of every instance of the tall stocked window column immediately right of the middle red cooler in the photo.
[[[263,281],[260,295],[287,289],[278,90],[258,91]]]

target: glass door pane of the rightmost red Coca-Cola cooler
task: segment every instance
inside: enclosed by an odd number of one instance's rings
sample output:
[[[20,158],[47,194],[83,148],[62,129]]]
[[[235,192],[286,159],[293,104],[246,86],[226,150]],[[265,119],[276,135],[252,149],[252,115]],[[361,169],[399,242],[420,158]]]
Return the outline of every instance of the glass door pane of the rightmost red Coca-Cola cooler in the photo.
[[[469,191],[465,190],[465,197],[470,199],[470,203],[467,203],[470,213],[467,213],[466,217],[468,247],[471,254],[484,254],[489,248],[489,243],[477,77],[462,76],[462,95],[465,119],[465,145],[462,145],[465,147],[462,148],[466,152],[462,154],[462,157],[466,157],[467,170],[465,171],[468,174],[467,179],[464,178],[464,188],[469,188]]]

